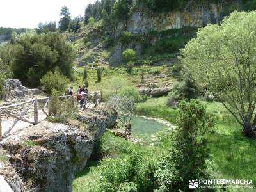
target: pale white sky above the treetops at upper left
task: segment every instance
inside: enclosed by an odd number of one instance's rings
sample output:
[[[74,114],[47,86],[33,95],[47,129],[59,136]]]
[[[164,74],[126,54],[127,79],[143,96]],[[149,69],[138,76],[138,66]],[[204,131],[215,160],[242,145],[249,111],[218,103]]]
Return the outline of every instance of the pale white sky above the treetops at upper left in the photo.
[[[84,15],[87,4],[95,0],[0,0],[0,26],[37,28],[38,23],[60,20],[62,6],[67,6],[72,17]]]

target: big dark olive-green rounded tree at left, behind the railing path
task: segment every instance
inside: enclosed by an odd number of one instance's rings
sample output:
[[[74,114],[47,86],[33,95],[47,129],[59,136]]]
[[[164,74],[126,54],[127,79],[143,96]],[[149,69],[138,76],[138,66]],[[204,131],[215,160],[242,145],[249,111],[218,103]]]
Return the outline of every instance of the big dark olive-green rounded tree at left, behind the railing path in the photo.
[[[11,42],[13,76],[22,83],[38,86],[40,78],[56,67],[72,79],[76,51],[59,33],[27,31],[13,35]]]

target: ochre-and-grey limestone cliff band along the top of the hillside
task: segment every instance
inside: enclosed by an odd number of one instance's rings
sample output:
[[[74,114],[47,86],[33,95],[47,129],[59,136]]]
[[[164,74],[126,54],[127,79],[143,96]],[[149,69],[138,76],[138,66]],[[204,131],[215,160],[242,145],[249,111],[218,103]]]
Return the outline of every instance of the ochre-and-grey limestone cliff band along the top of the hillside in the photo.
[[[206,24],[220,22],[228,12],[237,10],[239,1],[232,4],[227,1],[222,3],[207,3],[207,1],[189,1],[182,10],[157,15],[137,8],[127,21],[127,31],[131,33],[148,33],[150,31],[164,31],[180,29],[184,26],[202,27]]]

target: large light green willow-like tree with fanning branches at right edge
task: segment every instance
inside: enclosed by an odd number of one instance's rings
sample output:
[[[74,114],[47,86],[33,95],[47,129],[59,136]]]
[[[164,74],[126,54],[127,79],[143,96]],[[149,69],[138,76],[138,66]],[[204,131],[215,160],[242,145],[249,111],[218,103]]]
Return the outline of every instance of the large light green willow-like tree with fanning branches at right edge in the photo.
[[[255,18],[256,12],[234,12],[220,26],[200,29],[181,58],[196,81],[243,126],[246,136],[254,136],[256,129]]]

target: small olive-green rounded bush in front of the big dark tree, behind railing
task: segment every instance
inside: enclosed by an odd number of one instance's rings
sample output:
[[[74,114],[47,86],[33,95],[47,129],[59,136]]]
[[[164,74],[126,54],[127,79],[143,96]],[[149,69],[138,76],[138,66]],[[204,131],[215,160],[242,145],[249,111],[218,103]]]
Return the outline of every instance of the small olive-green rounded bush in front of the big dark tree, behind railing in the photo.
[[[40,81],[42,90],[48,95],[52,95],[53,93],[58,95],[63,94],[69,83],[67,77],[63,76],[58,68],[54,72],[47,72]]]

